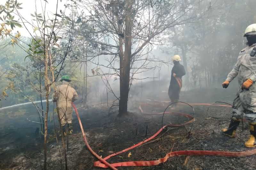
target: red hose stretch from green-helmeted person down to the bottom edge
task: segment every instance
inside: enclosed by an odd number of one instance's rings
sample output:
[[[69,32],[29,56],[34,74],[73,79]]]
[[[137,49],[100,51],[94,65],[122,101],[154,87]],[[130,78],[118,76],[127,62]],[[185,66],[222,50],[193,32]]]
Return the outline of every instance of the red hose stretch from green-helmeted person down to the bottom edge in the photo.
[[[84,138],[84,143],[86,144],[87,148],[89,149],[90,152],[92,152],[92,154],[97,158],[99,159],[101,162],[103,162],[104,166],[106,166],[107,168],[111,168],[113,170],[117,170],[114,166],[110,165],[106,160],[102,159],[97,153],[95,153],[92,148],[90,147],[90,145],[88,144],[87,142],[87,139],[85,137],[85,134],[84,134],[84,129],[83,129],[83,125],[82,125],[82,122],[81,122],[81,119],[80,119],[80,116],[78,114],[78,111],[77,111],[77,108],[76,106],[74,105],[74,103],[72,102],[72,106],[74,107],[75,109],[75,112],[76,112],[76,116],[77,116],[77,119],[78,119],[78,122],[80,124],[80,128],[81,128],[81,131],[82,131],[82,134],[83,134],[83,138]]]

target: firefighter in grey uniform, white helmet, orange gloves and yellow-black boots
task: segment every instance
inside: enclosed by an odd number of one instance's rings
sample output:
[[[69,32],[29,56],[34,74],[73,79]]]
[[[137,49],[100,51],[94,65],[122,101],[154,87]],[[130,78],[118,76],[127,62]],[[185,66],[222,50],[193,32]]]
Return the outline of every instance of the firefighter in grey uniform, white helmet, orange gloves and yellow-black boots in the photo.
[[[244,37],[247,39],[247,47],[240,51],[237,62],[225,82],[223,88],[237,76],[238,92],[233,102],[233,112],[229,127],[223,129],[223,134],[235,137],[236,128],[241,119],[245,117],[250,122],[250,138],[245,142],[246,147],[256,146],[256,24],[245,29]]]

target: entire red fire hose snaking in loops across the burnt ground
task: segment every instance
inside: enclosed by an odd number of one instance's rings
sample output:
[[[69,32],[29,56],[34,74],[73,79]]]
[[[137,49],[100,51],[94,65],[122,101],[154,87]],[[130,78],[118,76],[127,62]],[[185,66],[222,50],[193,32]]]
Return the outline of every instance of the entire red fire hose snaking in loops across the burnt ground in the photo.
[[[211,106],[211,104],[208,104],[208,103],[192,103],[190,105]],[[131,150],[133,148],[136,148],[136,147],[138,147],[138,146],[148,142],[149,140],[155,138],[166,127],[169,127],[169,126],[176,126],[176,127],[177,126],[184,126],[184,125],[186,125],[188,123],[192,123],[192,122],[194,122],[194,116],[188,115],[188,114],[185,114],[185,113],[165,112],[165,113],[169,113],[169,114],[179,114],[179,115],[185,116],[187,118],[191,118],[191,120],[189,120],[188,122],[185,122],[184,124],[180,124],[180,125],[165,125],[161,129],[159,129],[152,137],[149,137],[148,139],[146,139],[146,140],[144,140],[144,141],[142,141],[142,142],[140,142],[138,144],[132,145],[131,147],[126,148],[126,149],[124,149],[122,151],[119,151],[119,152],[113,153],[111,155],[108,155],[107,157],[102,159],[99,155],[97,155],[95,152],[93,152],[91,147],[89,146],[89,144],[88,144],[88,142],[86,140],[85,134],[84,134],[84,129],[83,129],[83,126],[82,126],[79,114],[77,112],[76,106],[73,103],[72,103],[72,106],[74,107],[74,109],[76,111],[76,116],[78,118],[78,121],[79,121],[79,124],[80,124],[80,128],[82,130],[82,134],[83,134],[83,138],[84,138],[84,142],[85,142],[86,146],[88,147],[90,152],[92,152],[92,154],[99,159],[99,161],[94,162],[94,166],[97,166],[97,167],[116,169],[115,167],[118,167],[118,166],[155,166],[155,165],[159,165],[161,163],[166,162],[168,158],[171,158],[171,157],[174,157],[174,156],[208,155],[208,156],[241,157],[241,156],[250,156],[250,155],[256,154],[256,149],[253,149],[251,151],[245,151],[245,152],[175,151],[175,152],[167,153],[164,158],[160,158],[158,160],[151,160],[151,161],[127,161],[127,162],[117,162],[117,163],[109,164],[108,162],[106,162],[107,159],[109,159],[111,157],[114,157],[114,156],[116,156],[118,154],[121,154],[123,152],[129,151],[129,150]],[[231,106],[227,106],[227,105],[215,105],[215,106],[231,107]],[[148,114],[148,113],[144,113],[143,112],[141,106],[139,108],[140,108],[140,110],[141,110],[141,112],[143,114]],[[158,114],[163,114],[163,113],[158,113]]]

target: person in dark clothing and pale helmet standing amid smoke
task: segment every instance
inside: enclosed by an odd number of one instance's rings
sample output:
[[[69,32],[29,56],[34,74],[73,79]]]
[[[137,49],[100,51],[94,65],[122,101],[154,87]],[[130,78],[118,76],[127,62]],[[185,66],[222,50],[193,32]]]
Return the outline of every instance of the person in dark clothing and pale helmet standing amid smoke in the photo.
[[[174,55],[172,56],[173,68],[171,74],[171,81],[168,90],[169,98],[171,99],[171,103],[178,102],[180,99],[180,90],[182,87],[182,76],[186,74],[183,65],[180,64],[180,56]]]

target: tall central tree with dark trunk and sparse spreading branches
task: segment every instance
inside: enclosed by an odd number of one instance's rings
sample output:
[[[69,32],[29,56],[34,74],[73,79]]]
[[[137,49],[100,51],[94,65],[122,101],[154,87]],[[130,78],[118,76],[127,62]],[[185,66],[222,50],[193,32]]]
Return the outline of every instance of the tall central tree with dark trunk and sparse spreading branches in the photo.
[[[135,68],[138,73],[148,67],[149,62],[159,61],[150,58],[148,52],[154,44],[161,43],[158,38],[166,29],[197,19],[196,15],[187,16],[194,3],[184,5],[179,0],[95,0],[78,4],[91,14],[86,19],[93,26],[95,36],[98,36],[94,41],[96,46],[104,46],[110,57],[118,57],[118,66],[113,64],[113,58],[104,66],[112,65],[120,78],[120,115],[127,113],[128,94],[134,75],[131,69]],[[138,61],[143,64],[136,65]]]

